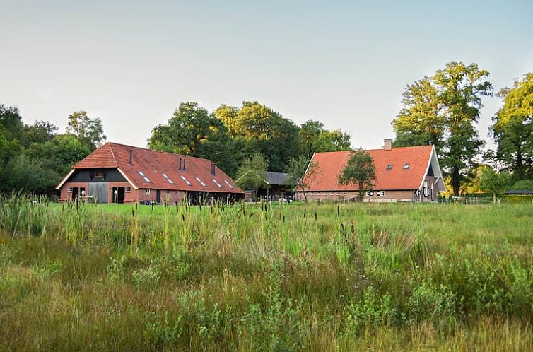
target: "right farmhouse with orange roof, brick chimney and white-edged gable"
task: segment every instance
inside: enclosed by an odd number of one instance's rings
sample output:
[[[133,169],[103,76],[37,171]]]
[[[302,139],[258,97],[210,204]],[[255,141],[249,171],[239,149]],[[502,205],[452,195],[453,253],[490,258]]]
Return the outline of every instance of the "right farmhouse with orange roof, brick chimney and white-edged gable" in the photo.
[[[435,201],[445,191],[434,146],[392,148],[392,139],[385,139],[385,147],[369,150],[376,168],[376,182],[366,192],[363,201]],[[307,199],[347,200],[358,197],[357,185],[339,184],[339,175],[348,163],[349,151],[315,153],[315,175],[305,175],[309,187]],[[303,200],[303,192],[296,190],[296,198]]]

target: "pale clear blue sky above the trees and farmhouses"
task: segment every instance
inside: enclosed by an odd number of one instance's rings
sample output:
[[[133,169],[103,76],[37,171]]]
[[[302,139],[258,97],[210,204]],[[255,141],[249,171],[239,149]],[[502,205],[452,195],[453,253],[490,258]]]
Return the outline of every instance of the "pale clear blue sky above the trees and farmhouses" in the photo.
[[[380,148],[407,84],[449,61],[496,93],[533,71],[533,1],[0,0],[0,103],[61,130],[100,117],[107,141],[146,146],[180,102],[257,100]],[[483,99],[488,137],[500,99]]]

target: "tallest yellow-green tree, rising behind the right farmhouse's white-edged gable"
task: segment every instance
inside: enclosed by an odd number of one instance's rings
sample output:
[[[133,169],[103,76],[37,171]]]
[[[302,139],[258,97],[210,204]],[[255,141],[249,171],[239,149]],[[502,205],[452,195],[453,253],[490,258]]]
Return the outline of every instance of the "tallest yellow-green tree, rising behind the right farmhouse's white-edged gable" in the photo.
[[[491,94],[487,77],[477,64],[450,62],[433,77],[407,86],[404,107],[392,122],[397,146],[435,145],[455,196],[484,145],[474,124],[483,107],[481,96]]]

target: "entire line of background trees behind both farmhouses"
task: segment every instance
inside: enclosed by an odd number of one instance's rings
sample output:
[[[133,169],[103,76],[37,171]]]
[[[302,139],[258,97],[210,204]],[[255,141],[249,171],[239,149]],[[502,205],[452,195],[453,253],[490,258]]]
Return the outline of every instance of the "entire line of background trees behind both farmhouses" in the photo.
[[[477,64],[452,61],[407,85],[392,120],[395,147],[435,146],[456,196],[472,189],[500,192],[513,184],[533,188],[533,73],[496,93],[502,100],[490,128],[496,149],[482,153],[476,125],[482,98],[493,95],[488,76]],[[74,163],[105,141],[100,119],[83,111],[68,117],[66,133],[57,131],[46,121],[25,125],[16,107],[0,105],[0,192],[51,193]],[[153,128],[148,146],[208,158],[231,177],[266,169],[288,172],[297,184],[313,153],[349,151],[351,141],[349,134],[325,129],[317,120],[298,126],[257,101],[212,112],[197,102],[182,102],[167,123]],[[252,180],[255,174],[244,183],[258,187],[262,180]]]

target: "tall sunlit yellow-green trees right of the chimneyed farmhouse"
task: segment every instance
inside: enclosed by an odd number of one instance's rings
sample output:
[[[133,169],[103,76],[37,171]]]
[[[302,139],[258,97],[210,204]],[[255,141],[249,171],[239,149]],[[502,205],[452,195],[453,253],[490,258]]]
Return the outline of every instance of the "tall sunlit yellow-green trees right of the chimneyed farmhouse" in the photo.
[[[533,188],[533,73],[496,94],[502,99],[490,127],[496,150],[482,153],[476,124],[482,97],[493,95],[488,76],[477,64],[452,61],[409,84],[392,121],[394,146],[435,146],[455,196],[474,184],[490,193],[517,182]]]

